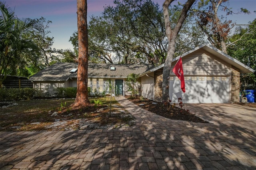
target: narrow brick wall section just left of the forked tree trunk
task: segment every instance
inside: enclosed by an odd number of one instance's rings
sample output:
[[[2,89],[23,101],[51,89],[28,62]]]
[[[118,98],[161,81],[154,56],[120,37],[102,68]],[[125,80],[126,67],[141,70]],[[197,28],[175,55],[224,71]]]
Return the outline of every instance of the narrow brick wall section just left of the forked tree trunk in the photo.
[[[162,85],[163,85],[163,69],[158,69],[154,73],[154,86],[155,86],[154,101],[157,101],[157,102],[162,101]]]

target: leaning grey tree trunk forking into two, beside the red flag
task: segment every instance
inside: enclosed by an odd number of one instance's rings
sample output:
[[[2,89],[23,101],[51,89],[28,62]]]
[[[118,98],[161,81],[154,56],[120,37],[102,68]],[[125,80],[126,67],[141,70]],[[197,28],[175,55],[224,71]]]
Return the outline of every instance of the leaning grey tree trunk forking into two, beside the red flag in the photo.
[[[168,52],[166,56],[166,60],[164,62],[164,70],[163,70],[163,85],[162,85],[162,101],[168,101],[170,99],[169,95],[169,84],[170,84],[170,70],[172,65],[172,60],[175,52],[175,40],[176,37],[182,27],[184,20],[187,17],[188,10],[192,6],[192,4],[196,0],[188,0],[186,4],[183,6],[178,22],[176,23],[175,28],[172,30],[170,24],[170,16],[169,16],[169,6],[174,0],[165,0],[163,4],[163,12],[164,12],[164,24],[166,30],[166,36],[168,38]]]

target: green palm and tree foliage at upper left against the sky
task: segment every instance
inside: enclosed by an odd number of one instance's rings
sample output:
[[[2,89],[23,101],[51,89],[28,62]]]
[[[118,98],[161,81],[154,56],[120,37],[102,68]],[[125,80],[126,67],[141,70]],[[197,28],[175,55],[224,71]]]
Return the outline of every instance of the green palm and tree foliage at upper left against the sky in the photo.
[[[6,2],[0,2],[0,81],[2,75],[29,77],[58,61],[52,53],[51,21],[18,18]]]

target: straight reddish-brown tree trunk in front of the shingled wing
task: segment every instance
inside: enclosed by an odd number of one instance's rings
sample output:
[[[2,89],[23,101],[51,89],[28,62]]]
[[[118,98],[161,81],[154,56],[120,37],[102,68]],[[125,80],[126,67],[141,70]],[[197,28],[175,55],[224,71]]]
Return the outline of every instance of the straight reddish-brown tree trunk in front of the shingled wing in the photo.
[[[77,0],[78,26],[78,70],[77,92],[73,107],[90,103],[88,99],[88,30],[87,30],[87,0]]]

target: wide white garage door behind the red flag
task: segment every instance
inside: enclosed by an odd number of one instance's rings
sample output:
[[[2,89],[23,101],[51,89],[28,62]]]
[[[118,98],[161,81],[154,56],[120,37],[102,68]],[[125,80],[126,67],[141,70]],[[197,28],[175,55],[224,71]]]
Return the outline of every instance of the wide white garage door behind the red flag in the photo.
[[[229,103],[229,77],[184,77],[186,92],[180,89],[180,79],[170,77],[170,99],[178,103]]]

